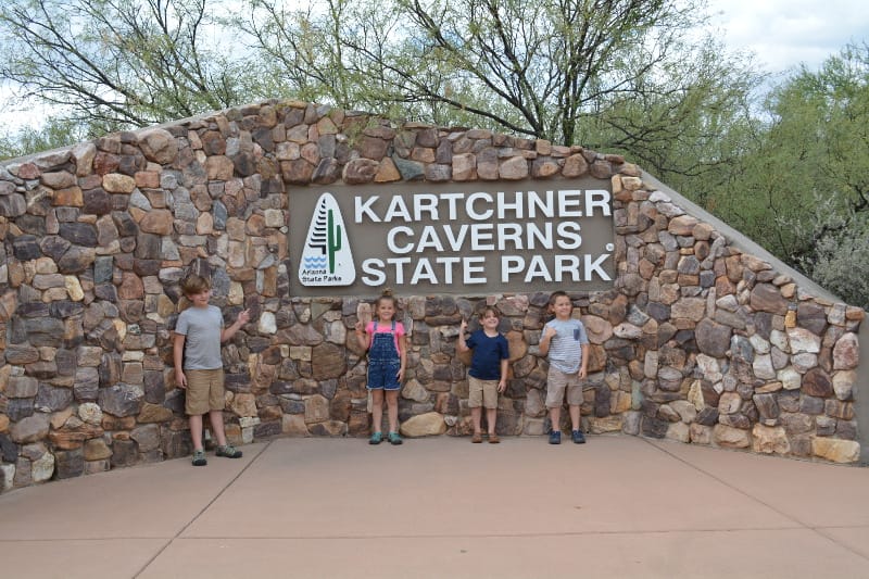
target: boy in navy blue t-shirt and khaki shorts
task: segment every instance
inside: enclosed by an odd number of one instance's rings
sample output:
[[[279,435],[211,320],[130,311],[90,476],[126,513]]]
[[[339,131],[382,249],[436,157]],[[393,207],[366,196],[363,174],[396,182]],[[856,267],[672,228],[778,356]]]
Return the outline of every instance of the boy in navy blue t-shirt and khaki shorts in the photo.
[[[501,440],[495,432],[498,418],[498,393],[507,388],[507,363],[509,344],[498,331],[498,312],[487,307],[482,312],[482,328],[465,339],[468,323],[463,319],[458,330],[458,351],[474,350],[468,370],[468,406],[474,420],[474,436],[470,441],[482,442],[480,420],[486,406],[486,421],[489,425],[489,443],[498,444]]]

